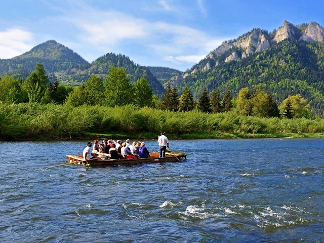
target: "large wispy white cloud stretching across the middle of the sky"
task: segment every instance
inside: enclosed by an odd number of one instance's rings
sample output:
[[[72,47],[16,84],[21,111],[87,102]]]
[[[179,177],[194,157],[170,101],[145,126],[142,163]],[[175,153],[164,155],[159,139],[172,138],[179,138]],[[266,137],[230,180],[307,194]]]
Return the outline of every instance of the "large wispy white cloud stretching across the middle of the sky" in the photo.
[[[169,1],[160,0],[159,3],[171,11]],[[101,50],[103,54],[115,50],[123,52],[126,47],[129,52],[132,46],[133,53],[123,54],[136,56],[137,50],[141,49],[141,53],[145,51],[151,57],[155,56],[155,60],[196,63],[225,41],[225,38],[215,38],[185,25],[149,21],[122,12],[91,7],[75,11],[64,21],[80,30],[77,36],[80,43],[89,50]]]

